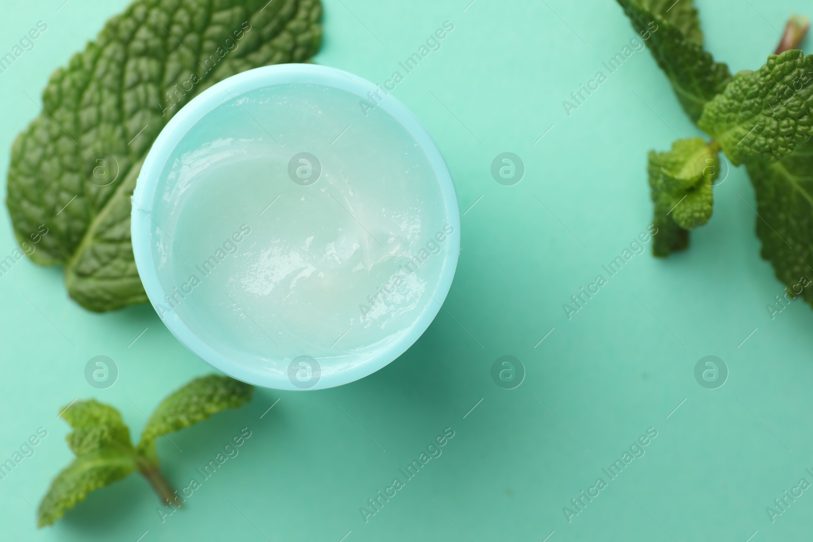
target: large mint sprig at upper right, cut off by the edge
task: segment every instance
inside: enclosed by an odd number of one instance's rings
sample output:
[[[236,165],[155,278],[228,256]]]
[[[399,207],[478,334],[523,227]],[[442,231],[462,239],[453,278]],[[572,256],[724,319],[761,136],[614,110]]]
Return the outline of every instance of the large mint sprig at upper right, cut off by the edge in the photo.
[[[654,255],[685,249],[689,230],[711,218],[722,150],[733,165],[746,165],[754,185],[763,258],[791,297],[813,305],[813,288],[804,289],[813,282],[813,56],[797,49],[810,21],[793,15],[776,54],[758,70],[732,78],[725,76],[724,64],[698,54],[702,33],[690,0],[617,1],[634,28],[651,18],[666,30],[652,34],[650,50],[685,111],[712,138],[681,139],[667,152],[650,151],[647,170],[659,229]]]

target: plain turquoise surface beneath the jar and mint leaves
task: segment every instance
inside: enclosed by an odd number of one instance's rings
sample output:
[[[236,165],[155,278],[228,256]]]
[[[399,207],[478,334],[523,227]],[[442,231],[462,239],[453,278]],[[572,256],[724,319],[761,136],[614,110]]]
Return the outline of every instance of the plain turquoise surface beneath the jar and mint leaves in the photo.
[[[424,336],[354,384],[258,390],[245,408],[172,435],[175,445],[162,439],[163,471],[180,488],[252,431],[165,522],[134,475],[37,531],[33,506],[72,457],[61,406],[96,397],[138,434],[142,411],[211,369],[150,306],[91,314],[67,298],[58,268],[18,262],[0,278],[0,461],[37,427],[48,436],[0,480],[4,540],[810,540],[813,491],[775,522],[765,509],[802,477],[813,482],[813,311],[794,301],[771,319],[766,309],[783,286],[759,258],[745,171],[715,189],[714,217],[687,252],[656,260],[650,241],[568,320],[563,303],[650,223],[646,151],[700,132],[644,51],[564,112],[562,101],[635,36],[615,2],[468,2],[327,0],[315,59],[383,82],[454,24],[393,91],[437,141],[467,211],[446,310]],[[707,48],[733,72],[759,67],[786,18],[811,9],[697,3]],[[38,114],[25,93],[39,102],[54,68],[126,2],[62,4],[14,2],[0,18],[3,53],[37,20],[49,26],[0,75],[0,149]],[[505,151],[527,169],[515,186],[490,175]],[[15,241],[0,212],[5,257]],[[512,390],[490,376],[506,354],[527,371]],[[96,355],[120,367],[111,388],[85,381]],[[694,379],[706,355],[728,365],[722,388]],[[446,427],[454,438],[441,457],[364,522],[359,507]],[[648,427],[658,436],[646,455],[568,523],[563,506]]]

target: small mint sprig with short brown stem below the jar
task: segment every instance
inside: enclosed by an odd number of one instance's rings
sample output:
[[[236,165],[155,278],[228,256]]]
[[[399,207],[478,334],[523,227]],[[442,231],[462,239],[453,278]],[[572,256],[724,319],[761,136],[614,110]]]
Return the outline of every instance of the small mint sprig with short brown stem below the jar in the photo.
[[[67,444],[76,459],[51,482],[37,510],[37,526],[53,524],[89,492],[123,479],[133,470],[145,476],[165,504],[180,505],[161,474],[155,440],[222,410],[238,408],[250,401],[253,391],[249,384],[228,376],[193,379],[161,401],[137,446],[131,443],[130,431],[114,407],[94,399],[68,405],[59,415],[73,428]]]

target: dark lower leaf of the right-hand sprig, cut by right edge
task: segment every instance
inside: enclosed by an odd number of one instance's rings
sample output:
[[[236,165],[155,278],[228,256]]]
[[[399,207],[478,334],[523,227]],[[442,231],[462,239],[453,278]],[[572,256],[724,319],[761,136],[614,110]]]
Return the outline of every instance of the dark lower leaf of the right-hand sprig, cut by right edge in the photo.
[[[757,199],[762,257],[791,296],[813,305],[813,142],[779,162],[746,163]]]

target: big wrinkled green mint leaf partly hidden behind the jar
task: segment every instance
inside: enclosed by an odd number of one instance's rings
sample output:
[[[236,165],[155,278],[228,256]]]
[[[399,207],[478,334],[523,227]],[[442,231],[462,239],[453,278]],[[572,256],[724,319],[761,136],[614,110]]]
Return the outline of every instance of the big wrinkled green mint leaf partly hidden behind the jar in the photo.
[[[250,68],[319,48],[319,0],[136,0],[51,76],[42,113],[11,150],[7,205],[31,257],[65,266],[90,310],[147,301],[130,245],[139,164],[181,106]]]

